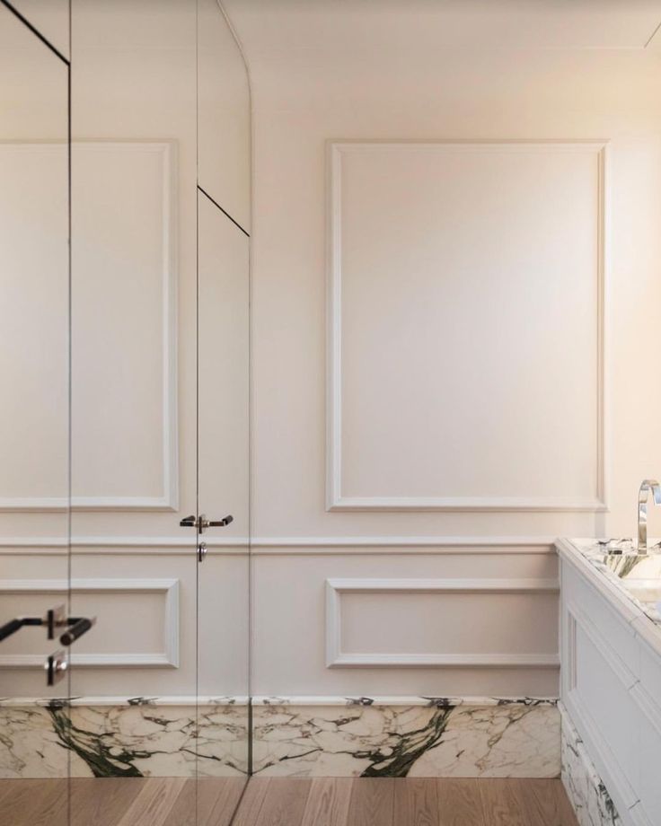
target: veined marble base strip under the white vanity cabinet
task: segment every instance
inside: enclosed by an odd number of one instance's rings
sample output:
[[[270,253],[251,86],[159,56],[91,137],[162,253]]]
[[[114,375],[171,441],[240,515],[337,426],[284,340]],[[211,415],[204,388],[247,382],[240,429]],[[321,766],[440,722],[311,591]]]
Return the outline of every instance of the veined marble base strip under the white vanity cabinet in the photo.
[[[561,709],[562,783],[577,815],[578,826],[621,826],[604,781],[565,709]]]

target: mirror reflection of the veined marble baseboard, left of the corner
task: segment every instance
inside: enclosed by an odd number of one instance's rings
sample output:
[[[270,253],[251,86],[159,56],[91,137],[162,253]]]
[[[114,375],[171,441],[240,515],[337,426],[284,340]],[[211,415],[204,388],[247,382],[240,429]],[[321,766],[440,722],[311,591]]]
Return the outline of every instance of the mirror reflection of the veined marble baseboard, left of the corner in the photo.
[[[177,698],[179,699],[179,698]],[[248,771],[248,705],[205,698],[0,701],[0,778],[226,777]]]

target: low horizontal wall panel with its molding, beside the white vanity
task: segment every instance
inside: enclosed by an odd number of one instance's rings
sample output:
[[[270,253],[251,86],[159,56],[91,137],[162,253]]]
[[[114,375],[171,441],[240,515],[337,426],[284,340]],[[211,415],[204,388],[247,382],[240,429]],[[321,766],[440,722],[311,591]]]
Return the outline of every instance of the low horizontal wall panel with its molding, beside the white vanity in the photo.
[[[551,579],[329,579],[326,664],[557,669],[559,590]]]

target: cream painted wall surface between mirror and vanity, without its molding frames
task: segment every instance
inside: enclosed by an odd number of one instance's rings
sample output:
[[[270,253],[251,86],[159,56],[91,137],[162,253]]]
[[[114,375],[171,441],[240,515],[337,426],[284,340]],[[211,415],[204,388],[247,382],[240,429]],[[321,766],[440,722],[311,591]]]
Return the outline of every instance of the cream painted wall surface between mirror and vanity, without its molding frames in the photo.
[[[548,544],[553,536],[634,531],[639,481],[661,472],[656,424],[661,387],[647,366],[653,362],[661,315],[656,268],[661,213],[658,59],[650,49],[641,48],[519,48],[509,54],[494,49],[425,48],[431,37],[422,39],[419,51],[394,49],[381,57],[375,47],[382,33],[380,24],[375,22],[374,35],[367,15],[361,18],[358,13],[351,18],[355,39],[349,44],[339,38],[339,24],[338,30],[332,26],[323,30],[330,32],[335,47],[340,42],[345,46],[333,54],[330,47],[313,48],[319,45],[314,38],[321,38],[322,31],[314,28],[319,23],[314,14],[295,19],[291,8],[280,30],[285,41],[278,48],[274,37],[269,47],[257,25],[259,6],[249,4],[242,13],[240,5],[229,7],[251,60],[255,118],[253,690],[256,694],[554,694],[558,683],[552,668],[327,669],[324,582],[332,577],[357,577],[366,583],[378,577],[554,578],[555,560]],[[269,20],[276,25],[277,11],[272,13],[272,19],[268,12],[266,17],[262,13],[261,31]],[[391,34],[394,31],[399,35],[404,30],[395,27]],[[366,48],[357,48],[359,42]],[[326,142],[331,139],[608,142],[607,513],[599,511],[596,503],[588,503],[582,511],[562,506],[550,511],[527,506],[327,509],[325,222]],[[590,193],[594,194],[596,160],[592,169],[587,159],[586,165],[572,170],[567,158],[551,154],[544,163],[527,168],[501,168],[504,198],[518,198],[530,187],[513,206],[525,205],[525,215],[511,213],[509,218],[516,221],[507,220],[506,226],[501,218],[507,218],[507,213],[489,224],[484,212],[478,212],[485,192],[491,203],[498,193],[491,186],[485,190],[480,171],[472,167],[470,191],[462,185],[465,178],[459,179],[455,195],[462,198],[463,221],[453,226],[455,232],[465,234],[453,239],[456,254],[464,267],[466,261],[475,264],[465,270],[473,284],[479,272],[489,273],[489,262],[497,259],[499,288],[488,295],[480,292],[474,304],[459,295],[456,327],[450,336],[436,326],[448,321],[450,311],[440,301],[448,281],[436,277],[434,269],[444,252],[447,264],[448,253],[439,250],[437,239],[428,234],[432,215],[456,204],[456,199],[447,200],[447,174],[428,171],[426,180],[422,165],[406,167],[395,158],[389,159],[392,167],[388,168],[378,155],[368,156],[366,163],[373,161],[373,168],[348,172],[349,189],[352,185],[354,189],[346,198],[353,200],[342,202],[342,225],[349,239],[348,251],[343,245],[342,266],[358,279],[350,285],[353,292],[343,297],[350,303],[342,358],[351,363],[344,378],[342,416],[348,417],[353,428],[348,437],[354,440],[342,444],[348,454],[343,489],[369,496],[564,496],[594,502],[599,498],[600,442],[595,403],[598,244],[597,202]],[[560,164],[555,170],[554,163]],[[538,184],[546,197],[535,203],[531,196]],[[553,201],[547,185],[557,188]],[[400,197],[397,204],[393,195]],[[588,200],[579,203],[577,198],[584,196]],[[362,203],[359,198],[367,203],[357,215],[351,210]],[[436,212],[430,215],[427,207],[432,198]],[[474,238],[476,212],[479,237]],[[523,238],[516,237],[516,225],[524,218],[534,228],[530,249],[524,249]],[[580,232],[572,236],[577,227]],[[398,229],[403,244],[393,234]],[[558,246],[557,236],[549,239],[548,233],[556,229],[565,233],[568,249]],[[499,249],[504,231],[507,247]],[[586,232],[589,247],[584,246]],[[490,256],[489,250],[493,250]],[[429,259],[421,266],[419,259],[425,253]],[[560,253],[556,261],[560,268],[549,262],[556,253]],[[507,265],[513,265],[520,279],[520,300],[503,268],[504,255],[510,256]],[[404,283],[411,259],[418,267],[415,286]],[[573,275],[567,264],[576,267]],[[467,283],[456,278],[456,272],[449,282],[455,293]],[[551,285],[546,278],[553,274]],[[420,279],[429,296],[422,306]],[[530,293],[524,292],[524,285],[532,285]],[[431,292],[433,288],[437,292]],[[498,325],[489,314],[489,304],[498,313]],[[344,308],[345,304],[343,312]],[[541,313],[539,325],[530,317],[532,312]],[[488,334],[495,338],[491,349],[485,340]],[[516,347],[517,336],[523,352]],[[459,342],[464,343],[463,349],[458,349]],[[478,343],[483,353],[473,349]],[[451,352],[444,347],[452,347]],[[533,365],[521,365],[528,352]],[[483,363],[489,365],[488,373],[480,373]],[[426,374],[431,378],[427,380]],[[407,382],[407,375],[419,381]],[[516,384],[522,376],[524,386]],[[397,382],[402,377],[403,385]],[[448,386],[453,389],[449,398]],[[408,404],[410,398],[415,404]],[[470,412],[466,400],[476,408],[474,422],[466,418]],[[524,416],[513,426],[517,400]],[[426,407],[434,411],[433,416],[425,417]],[[494,450],[487,456],[489,439],[479,429],[474,439],[470,435],[473,426],[489,422],[489,409],[509,415],[498,419]],[[447,435],[452,422],[455,442],[448,441]],[[405,449],[392,444],[398,435]],[[519,444],[525,449],[517,450]],[[445,473],[447,465],[441,461],[448,452],[452,473]],[[656,518],[657,514],[651,515],[652,532]],[[484,538],[480,542],[489,555],[467,553],[452,539],[475,536]],[[278,548],[260,550],[260,537],[277,537]],[[438,539],[416,539],[420,537]],[[498,537],[527,537],[522,539],[527,545],[542,543],[537,546],[541,552],[518,553],[516,540],[498,544]],[[424,546],[424,554],[417,542]],[[366,654],[378,646],[378,651],[393,656],[457,649],[470,655],[480,650],[486,623],[494,629],[493,653],[522,653],[525,645],[514,630],[521,622],[533,632],[538,653],[555,650],[556,616],[547,610],[548,597],[541,593],[527,595],[523,608],[505,598],[471,597],[474,623],[454,619],[449,628],[443,626],[439,613],[445,611],[442,593],[431,602],[428,596],[415,594],[387,598],[394,601],[392,618],[406,623],[407,634],[398,638],[396,650],[394,642],[389,645],[387,629],[383,636],[374,636],[370,625],[389,616],[385,603],[378,602],[371,611],[367,602],[360,602],[359,610],[347,610],[343,620],[349,623],[343,631],[348,651],[360,651],[362,646]],[[353,622],[363,628],[362,636]]]

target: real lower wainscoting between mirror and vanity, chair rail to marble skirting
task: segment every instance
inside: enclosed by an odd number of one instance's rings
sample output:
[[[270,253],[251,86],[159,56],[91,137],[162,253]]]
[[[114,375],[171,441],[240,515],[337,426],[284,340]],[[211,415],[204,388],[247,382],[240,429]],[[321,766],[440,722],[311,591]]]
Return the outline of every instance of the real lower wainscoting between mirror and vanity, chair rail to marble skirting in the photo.
[[[255,693],[557,696],[550,545],[372,540],[253,549]]]

